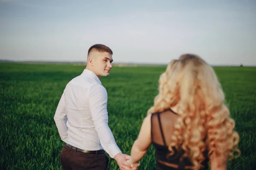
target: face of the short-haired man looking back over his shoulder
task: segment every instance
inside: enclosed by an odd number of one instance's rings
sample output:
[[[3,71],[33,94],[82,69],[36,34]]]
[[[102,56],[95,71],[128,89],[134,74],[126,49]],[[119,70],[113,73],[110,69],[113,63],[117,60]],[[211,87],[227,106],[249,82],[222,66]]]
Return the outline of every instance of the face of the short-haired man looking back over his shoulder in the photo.
[[[99,52],[99,55],[94,59],[93,70],[98,77],[108,76],[112,68],[112,55],[107,52]]]

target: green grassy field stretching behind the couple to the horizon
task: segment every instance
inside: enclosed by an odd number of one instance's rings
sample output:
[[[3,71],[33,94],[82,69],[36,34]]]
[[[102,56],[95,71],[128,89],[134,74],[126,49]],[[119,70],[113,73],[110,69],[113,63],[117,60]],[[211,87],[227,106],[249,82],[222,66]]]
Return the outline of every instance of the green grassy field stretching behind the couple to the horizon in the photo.
[[[84,66],[0,63],[0,169],[60,170],[64,145],[53,116],[61,94]],[[215,67],[240,135],[241,156],[228,170],[256,169],[256,68]],[[157,95],[165,67],[114,67],[102,77],[108,91],[109,126],[123,153],[130,154],[140,125]],[[119,169],[111,159],[111,170]],[[154,148],[139,170],[154,170]]]

